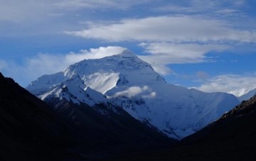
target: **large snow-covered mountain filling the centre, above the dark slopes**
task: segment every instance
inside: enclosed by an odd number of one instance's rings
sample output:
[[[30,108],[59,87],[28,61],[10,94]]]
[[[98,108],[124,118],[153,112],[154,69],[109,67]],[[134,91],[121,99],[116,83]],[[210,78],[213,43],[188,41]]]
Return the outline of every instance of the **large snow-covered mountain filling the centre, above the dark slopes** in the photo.
[[[82,60],[64,72],[38,78],[27,89],[43,100],[58,97],[75,104],[90,100],[91,106],[97,102],[122,106],[134,118],[176,139],[199,131],[239,103],[232,94],[168,84],[129,50]]]

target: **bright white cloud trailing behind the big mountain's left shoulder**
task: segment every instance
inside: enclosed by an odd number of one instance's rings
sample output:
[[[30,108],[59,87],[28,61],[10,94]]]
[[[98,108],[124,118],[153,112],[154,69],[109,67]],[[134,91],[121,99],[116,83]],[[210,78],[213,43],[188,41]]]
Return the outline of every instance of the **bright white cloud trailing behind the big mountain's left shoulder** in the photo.
[[[70,52],[66,55],[38,54],[35,57],[26,58],[22,64],[16,62],[0,61],[0,70],[8,77],[13,77],[22,86],[28,85],[33,79],[43,74],[53,74],[65,70],[69,65],[85,59],[97,59],[110,55],[117,55],[125,48],[109,46]]]

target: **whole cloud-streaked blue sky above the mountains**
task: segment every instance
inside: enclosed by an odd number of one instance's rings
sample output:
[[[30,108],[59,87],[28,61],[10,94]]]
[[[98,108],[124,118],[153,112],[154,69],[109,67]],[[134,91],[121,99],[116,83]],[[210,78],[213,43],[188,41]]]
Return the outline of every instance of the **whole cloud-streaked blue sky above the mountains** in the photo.
[[[203,91],[256,86],[252,0],[0,2],[0,71],[23,87],[124,48],[172,84]]]

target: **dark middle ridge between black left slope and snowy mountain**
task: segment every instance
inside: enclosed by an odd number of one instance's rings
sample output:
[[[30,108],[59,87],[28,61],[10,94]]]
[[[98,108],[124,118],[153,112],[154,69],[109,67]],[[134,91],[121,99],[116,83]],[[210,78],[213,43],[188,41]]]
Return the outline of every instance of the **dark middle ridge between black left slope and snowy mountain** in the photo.
[[[88,106],[87,104],[73,104],[70,101],[55,100],[48,104],[73,124],[79,131],[80,141],[86,145],[74,148],[80,155],[92,158],[104,158],[114,155],[123,155],[136,152],[146,152],[177,143],[177,140],[168,138],[156,129],[149,128],[137,121],[122,108],[109,104]],[[100,109],[104,113],[99,113]],[[114,109],[114,111],[113,111]]]

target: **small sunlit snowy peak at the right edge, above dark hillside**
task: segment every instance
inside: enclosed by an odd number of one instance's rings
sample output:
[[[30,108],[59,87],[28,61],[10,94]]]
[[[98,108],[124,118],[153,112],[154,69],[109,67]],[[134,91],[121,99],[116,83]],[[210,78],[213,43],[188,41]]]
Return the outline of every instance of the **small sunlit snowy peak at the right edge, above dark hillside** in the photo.
[[[252,96],[256,95],[256,87],[252,86],[252,87],[242,88],[235,91],[230,91],[228,93],[234,94],[239,101],[246,101],[250,99]]]

